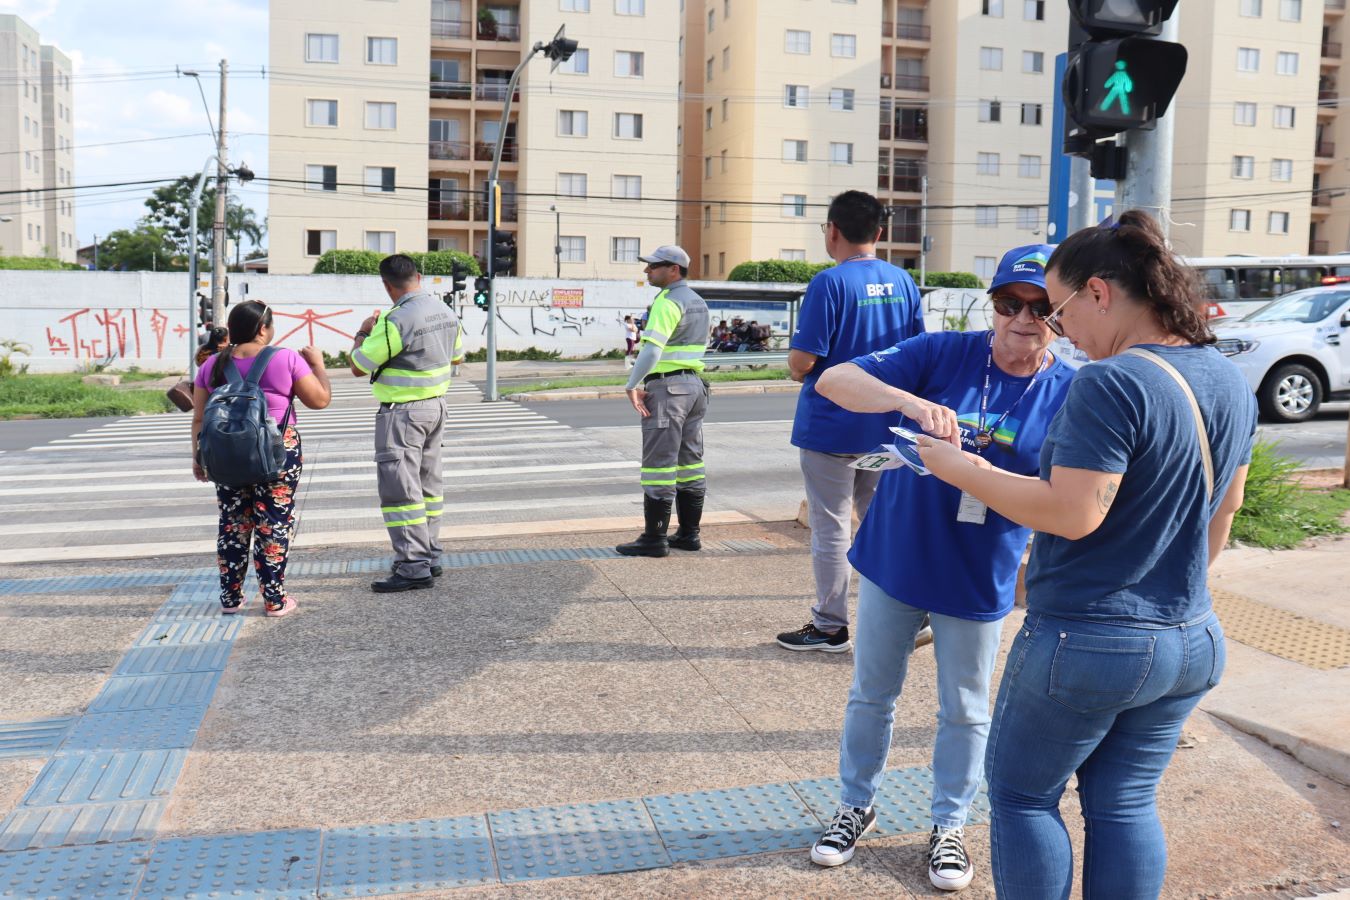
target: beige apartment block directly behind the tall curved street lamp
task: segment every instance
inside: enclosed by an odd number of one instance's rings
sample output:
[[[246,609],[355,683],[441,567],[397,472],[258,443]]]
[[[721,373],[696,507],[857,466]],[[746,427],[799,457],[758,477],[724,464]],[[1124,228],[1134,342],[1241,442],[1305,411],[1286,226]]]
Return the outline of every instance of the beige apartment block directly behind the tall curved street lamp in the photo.
[[[502,227],[516,271],[630,278],[675,236],[679,13],[657,0],[297,0],[271,5],[270,269],[324,251],[486,255],[483,186],[514,67]]]

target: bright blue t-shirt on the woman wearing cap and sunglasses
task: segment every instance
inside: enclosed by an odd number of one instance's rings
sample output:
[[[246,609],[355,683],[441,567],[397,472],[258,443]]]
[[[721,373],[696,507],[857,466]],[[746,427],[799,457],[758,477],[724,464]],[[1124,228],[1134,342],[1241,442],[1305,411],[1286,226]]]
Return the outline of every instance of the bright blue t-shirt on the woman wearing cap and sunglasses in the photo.
[[[956,410],[967,451],[980,453],[998,468],[1035,475],[1041,443],[1064,403],[1073,370],[1054,359],[1029,391],[1031,376],[1017,378],[998,366],[988,367],[986,425],[992,426],[1011,412],[994,432],[994,443],[980,449],[973,439],[991,335],[919,335],[855,359],[853,364],[892,387]],[[900,424],[919,430],[906,417]],[[887,437],[886,443],[900,440]],[[934,475],[909,468],[883,472],[849,561],[869,582],[910,606],[976,622],[1003,618],[1013,609],[1017,571],[1031,532],[994,510],[986,511],[983,525],[957,522],[960,503],[961,491]]]

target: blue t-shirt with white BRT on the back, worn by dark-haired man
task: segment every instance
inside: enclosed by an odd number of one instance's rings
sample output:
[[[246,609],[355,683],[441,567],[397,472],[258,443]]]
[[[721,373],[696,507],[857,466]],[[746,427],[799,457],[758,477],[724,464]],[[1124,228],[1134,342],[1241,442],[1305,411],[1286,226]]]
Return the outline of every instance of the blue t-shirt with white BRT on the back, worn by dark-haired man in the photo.
[[[850,413],[815,393],[830,366],[894,347],[923,332],[923,302],[903,269],[875,258],[832,266],[806,286],[792,349],[819,359],[802,382],[792,445],[821,453],[865,453],[890,437],[898,414]]]

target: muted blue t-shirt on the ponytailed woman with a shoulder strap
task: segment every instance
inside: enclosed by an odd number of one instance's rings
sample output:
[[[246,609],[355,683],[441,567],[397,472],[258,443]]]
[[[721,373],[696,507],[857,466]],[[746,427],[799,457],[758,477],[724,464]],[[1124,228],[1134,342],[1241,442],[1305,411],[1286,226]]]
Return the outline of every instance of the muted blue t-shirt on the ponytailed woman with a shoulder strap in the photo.
[[[1122,474],[1102,525],[1071,541],[1037,533],[1029,609],[1118,623],[1179,625],[1210,610],[1210,519],[1251,460],[1257,403],[1242,372],[1212,347],[1143,345],[1172,363],[1200,406],[1214,457],[1206,498],[1195,414],[1157,364],[1111,356],[1079,370],[1041,449],[1052,466]]]

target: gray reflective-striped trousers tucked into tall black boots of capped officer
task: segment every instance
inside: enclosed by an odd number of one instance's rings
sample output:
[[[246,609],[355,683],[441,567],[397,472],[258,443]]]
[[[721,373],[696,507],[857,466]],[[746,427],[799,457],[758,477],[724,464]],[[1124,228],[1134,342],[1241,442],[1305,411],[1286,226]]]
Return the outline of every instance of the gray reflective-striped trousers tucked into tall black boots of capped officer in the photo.
[[[707,385],[694,371],[674,372],[645,385],[643,420],[643,493],[674,499],[675,491],[703,494],[703,414]]]

